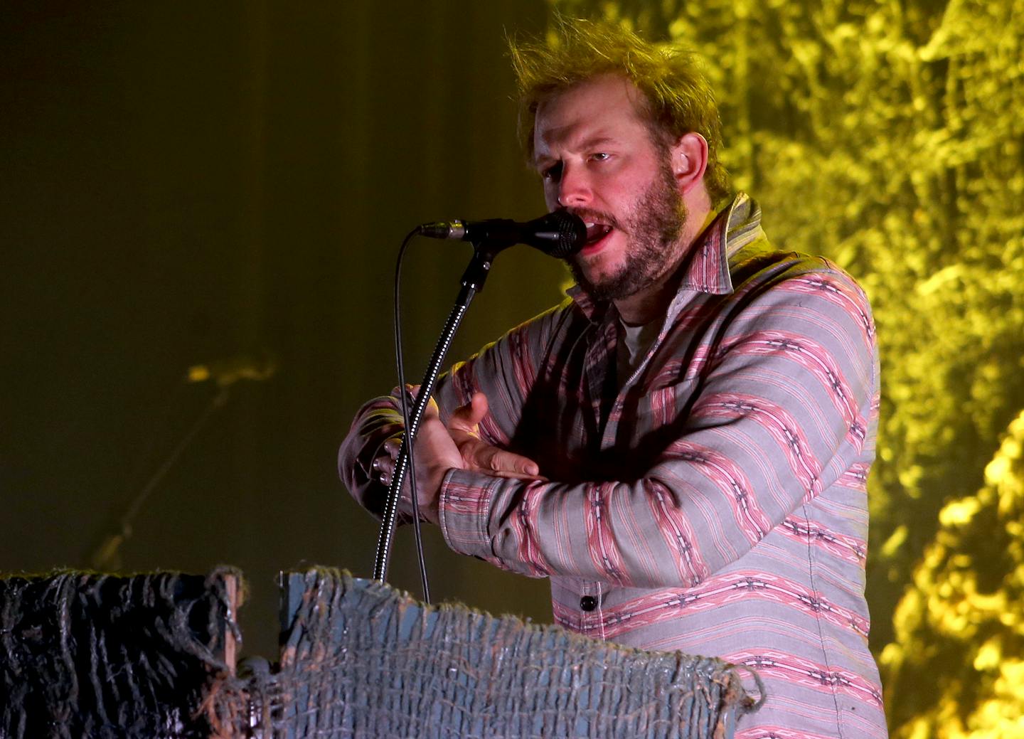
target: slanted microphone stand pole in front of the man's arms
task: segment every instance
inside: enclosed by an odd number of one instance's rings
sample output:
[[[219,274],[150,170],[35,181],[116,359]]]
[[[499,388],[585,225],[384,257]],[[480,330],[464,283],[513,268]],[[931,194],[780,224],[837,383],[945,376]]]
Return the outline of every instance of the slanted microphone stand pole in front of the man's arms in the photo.
[[[416,396],[416,403],[413,406],[413,415],[409,422],[409,428],[402,435],[401,446],[398,449],[398,459],[395,462],[394,474],[391,477],[391,485],[388,488],[387,503],[384,506],[384,517],[381,519],[380,535],[377,538],[377,555],[374,560],[374,579],[384,581],[387,578],[387,569],[391,560],[391,546],[394,542],[395,518],[398,512],[398,501],[401,496],[401,486],[406,480],[409,470],[410,445],[416,439],[416,432],[420,428],[420,421],[423,419],[423,411],[434,393],[434,386],[437,384],[437,376],[440,374],[441,362],[452,345],[452,339],[462,317],[469,308],[473,297],[483,289],[483,282],[490,271],[490,264],[504,246],[495,246],[488,242],[473,244],[473,257],[469,260],[469,265],[462,275],[462,289],[456,298],[455,306],[449,314],[441,335],[437,339],[434,353],[427,364],[427,372],[420,383],[420,392]],[[399,388],[399,392],[406,392],[406,388]]]

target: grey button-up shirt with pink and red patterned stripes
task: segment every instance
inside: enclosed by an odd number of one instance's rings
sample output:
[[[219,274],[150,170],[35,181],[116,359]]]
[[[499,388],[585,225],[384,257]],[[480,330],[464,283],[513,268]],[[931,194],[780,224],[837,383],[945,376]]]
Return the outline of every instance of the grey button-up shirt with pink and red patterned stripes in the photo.
[[[483,392],[481,438],[550,480],[450,471],[444,538],[549,577],[568,629],[751,667],[767,700],[738,737],[885,736],[864,601],[879,392],[867,300],[827,260],[774,249],[743,194],[681,269],[628,378],[613,304],[579,288],[443,378],[442,420]],[[394,408],[368,403],[339,458],[371,509]]]

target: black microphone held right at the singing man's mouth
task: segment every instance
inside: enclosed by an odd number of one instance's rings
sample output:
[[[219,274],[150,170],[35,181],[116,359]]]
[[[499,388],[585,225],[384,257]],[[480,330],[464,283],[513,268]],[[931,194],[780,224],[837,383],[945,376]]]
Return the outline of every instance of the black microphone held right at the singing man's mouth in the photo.
[[[587,226],[583,219],[568,211],[555,211],[526,223],[507,218],[454,220],[424,223],[417,230],[430,238],[456,238],[502,248],[525,244],[558,259],[575,254],[587,243]]]

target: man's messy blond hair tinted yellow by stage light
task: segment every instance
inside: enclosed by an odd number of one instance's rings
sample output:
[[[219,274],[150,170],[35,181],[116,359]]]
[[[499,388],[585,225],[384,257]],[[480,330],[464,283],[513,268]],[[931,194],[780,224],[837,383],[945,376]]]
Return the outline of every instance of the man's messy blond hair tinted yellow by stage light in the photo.
[[[598,75],[617,74],[641,93],[654,144],[667,148],[684,133],[708,140],[705,185],[712,202],[730,193],[729,175],[718,161],[721,123],[715,93],[694,55],[678,46],[655,46],[621,26],[556,15],[549,43],[509,39],[519,90],[519,136],[534,158],[538,106]]]

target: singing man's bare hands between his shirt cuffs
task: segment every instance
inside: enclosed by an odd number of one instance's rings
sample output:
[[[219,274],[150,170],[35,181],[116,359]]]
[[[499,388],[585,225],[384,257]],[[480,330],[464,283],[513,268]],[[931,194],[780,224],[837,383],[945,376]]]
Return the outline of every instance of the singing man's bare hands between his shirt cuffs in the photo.
[[[419,388],[413,388],[415,395]],[[444,475],[451,469],[472,470],[496,477],[518,480],[542,480],[532,460],[481,441],[477,426],[487,415],[487,398],[475,393],[470,402],[452,414],[445,427],[433,398],[427,403],[416,435],[416,492],[420,515],[431,523],[440,523],[439,497]],[[384,442],[385,454],[374,461],[380,480],[390,485],[400,444],[396,439]],[[410,493],[402,491],[403,495]]]

